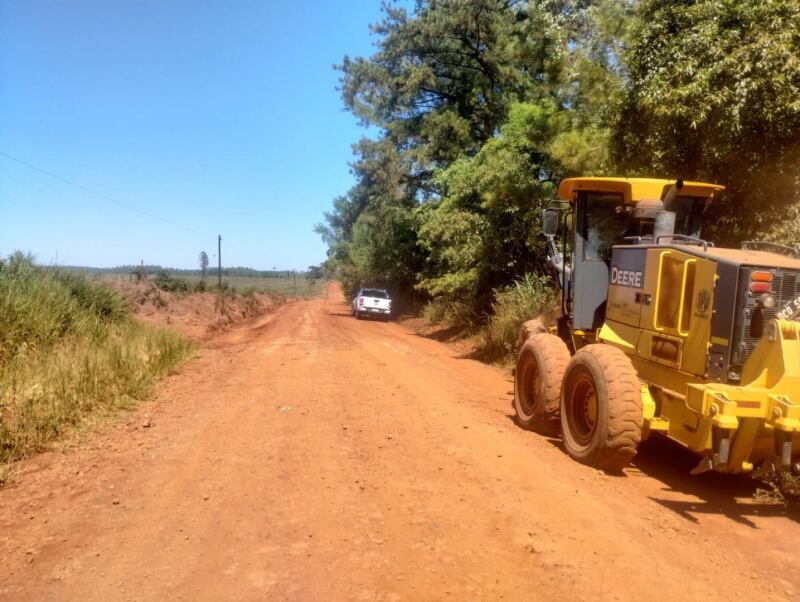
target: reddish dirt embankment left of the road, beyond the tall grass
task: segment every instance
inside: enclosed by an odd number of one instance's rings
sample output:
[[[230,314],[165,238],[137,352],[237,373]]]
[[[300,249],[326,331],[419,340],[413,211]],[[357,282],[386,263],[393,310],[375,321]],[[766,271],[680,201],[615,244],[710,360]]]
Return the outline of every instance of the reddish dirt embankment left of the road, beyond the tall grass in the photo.
[[[122,293],[138,318],[174,328],[194,340],[229,330],[245,320],[274,311],[287,301],[284,295],[227,292],[171,293],[145,283],[111,283]]]

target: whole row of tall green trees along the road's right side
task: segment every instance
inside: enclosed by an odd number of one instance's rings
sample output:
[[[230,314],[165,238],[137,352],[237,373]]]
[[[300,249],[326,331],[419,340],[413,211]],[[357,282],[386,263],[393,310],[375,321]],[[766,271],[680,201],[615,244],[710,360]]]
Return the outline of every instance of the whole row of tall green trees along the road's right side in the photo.
[[[796,0],[417,0],[372,31],[338,69],[379,133],[317,226],[350,290],[471,324],[544,299],[540,210],[571,175],[718,182],[709,237],[800,239]]]

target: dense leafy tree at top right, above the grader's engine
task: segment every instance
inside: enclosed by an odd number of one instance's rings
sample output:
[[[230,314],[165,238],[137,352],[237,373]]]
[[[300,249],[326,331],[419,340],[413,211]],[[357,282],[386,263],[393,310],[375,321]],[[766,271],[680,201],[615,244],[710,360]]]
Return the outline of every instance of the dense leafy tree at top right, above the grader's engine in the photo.
[[[644,0],[613,152],[629,174],[711,180],[722,243],[800,239],[800,4]]]

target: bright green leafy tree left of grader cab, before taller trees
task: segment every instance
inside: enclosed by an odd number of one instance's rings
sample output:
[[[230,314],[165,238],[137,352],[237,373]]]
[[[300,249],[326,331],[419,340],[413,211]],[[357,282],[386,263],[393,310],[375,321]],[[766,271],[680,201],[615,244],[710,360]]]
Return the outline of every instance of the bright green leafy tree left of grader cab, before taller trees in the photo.
[[[550,153],[558,128],[553,103],[515,105],[497,138],[441,172],[444,199],[417,212],[427,251],[418,288],[458,302],[464,319],[479,320],[494,289],[544,268],[536,232],[562,173]]]

